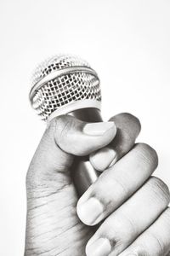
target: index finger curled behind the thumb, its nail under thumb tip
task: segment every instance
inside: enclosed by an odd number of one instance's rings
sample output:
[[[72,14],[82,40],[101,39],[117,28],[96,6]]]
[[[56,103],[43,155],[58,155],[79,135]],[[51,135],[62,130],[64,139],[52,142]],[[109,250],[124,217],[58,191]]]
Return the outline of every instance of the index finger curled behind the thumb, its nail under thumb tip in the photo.
[[[141,129],[139,119],[131,113],[119,113],[110,121],[114,121],[116,125],[116,137],[105,148],[90,154],[90,162],[99,172],[115,164],[133,148]]]

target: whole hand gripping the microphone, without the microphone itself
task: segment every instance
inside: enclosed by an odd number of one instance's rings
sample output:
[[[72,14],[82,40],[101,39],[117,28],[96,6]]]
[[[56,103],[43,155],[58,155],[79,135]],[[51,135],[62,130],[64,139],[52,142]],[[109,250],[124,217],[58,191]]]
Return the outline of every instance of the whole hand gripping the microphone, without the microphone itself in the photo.
[[[85,255],[89,239],[90,256],[167,254],[169,191],[160,179],[150,177],[156,152],[146,144],[133,146],[138,119],[120,114],[111,121],[116,126],[62,116],[45,131],[26,178],[26,256]],[[73,155],[86,154],[105,172],[77,204],[70,167]],[[77,213],[88,225],[103,221],[95,234]]]

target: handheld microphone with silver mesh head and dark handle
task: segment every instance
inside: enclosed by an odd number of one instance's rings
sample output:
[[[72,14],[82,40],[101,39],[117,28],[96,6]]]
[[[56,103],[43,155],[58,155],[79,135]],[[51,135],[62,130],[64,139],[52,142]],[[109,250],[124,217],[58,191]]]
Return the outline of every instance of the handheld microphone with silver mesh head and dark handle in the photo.
[[[42,62],[33,73],[29,98],[32,108],[47,123],[61,114],[86,122],[102,121],[98,74],[75,55],[56,55]],[[78,195],[99,177],[88,156],[76,157],[71,168]]]

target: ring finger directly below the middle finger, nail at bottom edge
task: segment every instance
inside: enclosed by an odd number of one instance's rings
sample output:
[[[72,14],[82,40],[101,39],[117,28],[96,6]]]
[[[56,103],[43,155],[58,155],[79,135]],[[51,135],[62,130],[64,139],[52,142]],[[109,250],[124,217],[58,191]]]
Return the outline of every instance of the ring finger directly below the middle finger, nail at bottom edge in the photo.
[[[87,255],[116,256],[121,253],[159,217],[167,208],[169,199],[167,185],[156,177],[150,177],[122,207],[105,219],[88,241]]]

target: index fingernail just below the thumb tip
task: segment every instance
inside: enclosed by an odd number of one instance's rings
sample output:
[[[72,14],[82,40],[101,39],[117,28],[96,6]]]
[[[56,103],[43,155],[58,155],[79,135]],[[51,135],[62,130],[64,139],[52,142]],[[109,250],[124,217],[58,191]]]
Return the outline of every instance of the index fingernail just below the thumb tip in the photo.
[[[94,168],[99,172],[103,172],[106,168],[110,167],[115,159],[116,151],[112,148],[99,149],[99,151],[94,152],[90,156]]]

